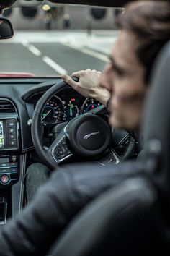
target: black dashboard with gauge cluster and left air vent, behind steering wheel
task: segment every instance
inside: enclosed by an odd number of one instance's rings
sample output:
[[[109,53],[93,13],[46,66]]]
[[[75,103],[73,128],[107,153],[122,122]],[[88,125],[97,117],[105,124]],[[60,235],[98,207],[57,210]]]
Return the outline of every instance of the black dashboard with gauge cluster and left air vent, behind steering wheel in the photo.
[[[34,149],[32,143],[30,120],[35,111],[37,101],[42,95],[56,83],[62,82],[60,77],[12,77],[1,78],[0,98],[0,152],[27,153]],[[6,106],[9,104],[9,111]],[[11,108],[12,106],[13,108]],[[69,87],[63,87],[57,95],[54,95],[42,111],[42,122],[44,121],[53,130],[55,124],[63,123],[73,119],[74,116],[90,111],[101,105],[94,99],[85,98]],[[9,120],[7,120],[9,119]],[[8,121],[15,121],[15,127],[9,127]],[[15,124],[14,123],[14,124]],[[58,126],[59,128],[60,126]],[[14,129],[14,131],[9,130]],[[48,129],[47,129],[48,132]],[[14,133],[14,135],[12,134]],[[122,141],[127,132],[120,132],[117,144]],[[13,141],[14,140],[14,141]],[[115,139],[114,139],[115,140]]]

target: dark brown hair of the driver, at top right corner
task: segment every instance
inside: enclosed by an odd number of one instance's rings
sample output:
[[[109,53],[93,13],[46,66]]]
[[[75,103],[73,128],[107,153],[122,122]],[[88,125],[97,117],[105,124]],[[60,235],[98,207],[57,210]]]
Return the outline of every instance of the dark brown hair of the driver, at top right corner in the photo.
[[[148,83],[153,62],[164,44],[170,40],[170,4],[167,1],[138,1],[128,4],[117,18],[117,26],[130,30],[139,39],[136,53],[146,68]]]

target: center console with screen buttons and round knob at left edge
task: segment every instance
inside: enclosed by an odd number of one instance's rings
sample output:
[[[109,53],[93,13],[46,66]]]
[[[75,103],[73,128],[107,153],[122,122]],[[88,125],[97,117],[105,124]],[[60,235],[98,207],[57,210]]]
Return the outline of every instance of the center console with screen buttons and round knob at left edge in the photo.
[[[0,113],[0,225],[12,216],[12,186],[19,181],[17,113]]]

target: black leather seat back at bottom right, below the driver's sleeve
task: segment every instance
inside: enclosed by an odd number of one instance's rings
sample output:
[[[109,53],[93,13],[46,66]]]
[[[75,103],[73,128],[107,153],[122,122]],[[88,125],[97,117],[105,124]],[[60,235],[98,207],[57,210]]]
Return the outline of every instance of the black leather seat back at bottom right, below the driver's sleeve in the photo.
[[[130,179],[91,202],[48,256],[145,255],[163,252],[156,189]]]

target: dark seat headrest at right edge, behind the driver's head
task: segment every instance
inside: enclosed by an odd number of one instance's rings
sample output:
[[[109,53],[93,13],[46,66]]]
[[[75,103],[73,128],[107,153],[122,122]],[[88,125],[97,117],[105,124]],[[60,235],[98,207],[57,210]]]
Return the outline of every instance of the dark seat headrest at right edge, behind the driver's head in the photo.
[[[151,178],[170,196],[170,42],[153,67],[151,90],[144,111],[143,142]]]

